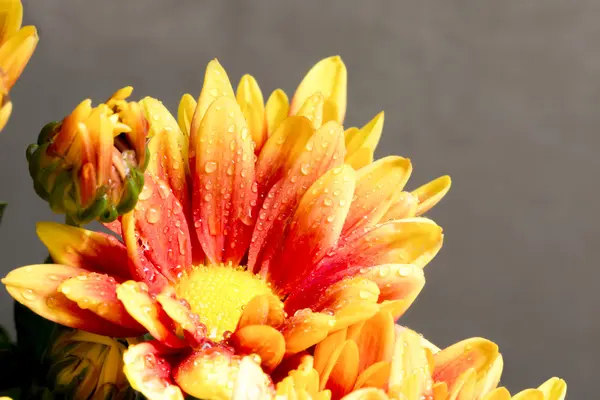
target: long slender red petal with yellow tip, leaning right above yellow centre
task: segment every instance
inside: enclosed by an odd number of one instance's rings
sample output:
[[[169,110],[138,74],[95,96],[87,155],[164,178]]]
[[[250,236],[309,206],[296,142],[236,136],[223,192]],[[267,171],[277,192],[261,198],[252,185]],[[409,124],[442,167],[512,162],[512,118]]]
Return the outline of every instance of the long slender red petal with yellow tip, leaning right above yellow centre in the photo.
[[[252,234],[248,268],[261,275],[266,275],[270,258],[283,244],[288,219],[304,193],[325,172],[342,165],[342,127],[335,122],[323,125],[298,150],[294,165],[266,195]]]

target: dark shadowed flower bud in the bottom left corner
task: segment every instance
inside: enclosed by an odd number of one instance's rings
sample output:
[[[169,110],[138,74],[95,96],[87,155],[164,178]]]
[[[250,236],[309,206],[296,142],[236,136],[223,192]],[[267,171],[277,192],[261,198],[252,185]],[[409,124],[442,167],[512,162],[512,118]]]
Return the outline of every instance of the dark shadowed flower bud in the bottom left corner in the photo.
[[[133,399],[123,373],[126,344],[108,336],[64,330],[46,355],[45,387],[54,398]]]

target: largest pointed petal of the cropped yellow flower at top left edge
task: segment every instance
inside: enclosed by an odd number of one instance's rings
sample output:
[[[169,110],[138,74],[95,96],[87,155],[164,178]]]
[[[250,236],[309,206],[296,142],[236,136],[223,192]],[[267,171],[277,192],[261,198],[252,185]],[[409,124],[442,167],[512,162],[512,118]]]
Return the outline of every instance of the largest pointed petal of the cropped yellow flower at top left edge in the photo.
[[[0,46],[0,68],[6,73],[6,86],[12,88],[33,55],[39,41],[34,26],[25,26]]]

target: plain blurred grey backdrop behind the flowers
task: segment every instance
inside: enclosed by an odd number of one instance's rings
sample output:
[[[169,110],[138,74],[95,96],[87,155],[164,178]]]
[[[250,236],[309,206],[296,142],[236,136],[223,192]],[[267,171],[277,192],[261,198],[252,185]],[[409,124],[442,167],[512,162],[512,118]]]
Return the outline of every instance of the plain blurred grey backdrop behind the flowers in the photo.
[[[597,0],[25,0],[38,50],[0,135],[2,274],[45,251],[25,146],[80,100],[132,84],[175,110],[218,57],[237,82],[288,93],[322,57],[349,69],[348,124],[387,113],[378,155],[414,187],[453,177],[428,283],[402,319],[440,346],[496,341],[511,391],[552,375],[570,398],[597,384],[600,2]],[[3,324],[9,297],[0,291]],[[594,378],[596,378],[594,380]]]

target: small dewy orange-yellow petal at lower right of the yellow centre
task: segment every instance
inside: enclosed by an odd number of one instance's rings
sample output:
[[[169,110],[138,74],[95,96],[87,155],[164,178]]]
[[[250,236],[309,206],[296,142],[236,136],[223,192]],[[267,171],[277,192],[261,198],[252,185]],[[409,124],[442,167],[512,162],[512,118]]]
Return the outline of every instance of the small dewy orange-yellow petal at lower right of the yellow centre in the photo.
[[[299,353],[319,343],[334,325],[335,320],[331,315],[314,313],[309,309],[297,311],[281,329],[286,355]]]

